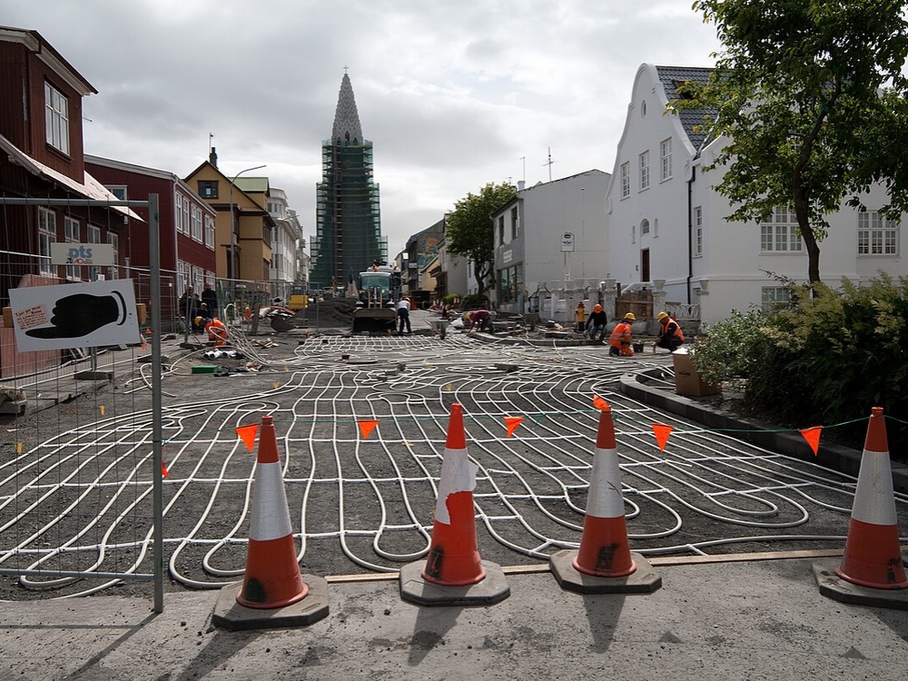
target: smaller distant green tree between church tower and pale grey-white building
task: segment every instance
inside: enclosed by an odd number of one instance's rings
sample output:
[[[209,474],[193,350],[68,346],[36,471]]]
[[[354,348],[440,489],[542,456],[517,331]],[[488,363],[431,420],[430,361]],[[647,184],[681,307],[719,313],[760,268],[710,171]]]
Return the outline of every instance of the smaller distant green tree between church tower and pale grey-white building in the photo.
[[[492,213],[514,198],[512,184],[489,183],[454,204],[454,212],[445,221],[448,250],[473,262],[479,295],[486,291],[486,280],[495,264],[495,229]]]

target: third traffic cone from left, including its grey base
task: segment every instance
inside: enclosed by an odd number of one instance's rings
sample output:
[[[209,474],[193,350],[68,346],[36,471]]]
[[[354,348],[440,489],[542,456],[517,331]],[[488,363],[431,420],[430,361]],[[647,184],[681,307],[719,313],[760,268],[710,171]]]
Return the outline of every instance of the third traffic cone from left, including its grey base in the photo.
[[[652,593],[662,586],[645,558],[631,557],[615,422],[607,404],[599,413],[580,548],[558,551],[550,564],[558,583],[579,593]]]

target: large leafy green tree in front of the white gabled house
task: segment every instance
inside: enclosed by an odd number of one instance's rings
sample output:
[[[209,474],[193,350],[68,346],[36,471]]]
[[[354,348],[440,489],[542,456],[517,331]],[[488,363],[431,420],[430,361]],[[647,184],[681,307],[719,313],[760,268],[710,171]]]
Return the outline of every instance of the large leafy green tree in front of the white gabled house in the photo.
[[[729,143],[708,167],[728,165],[716,190],[735,221],[794,209],[820,281],[825,216],[883,183],[899,218],[908,208],[903,142],[908,93],[905,0],[696,0],[723,51],[703,87],[671,108],[707,109],[709,133]]]

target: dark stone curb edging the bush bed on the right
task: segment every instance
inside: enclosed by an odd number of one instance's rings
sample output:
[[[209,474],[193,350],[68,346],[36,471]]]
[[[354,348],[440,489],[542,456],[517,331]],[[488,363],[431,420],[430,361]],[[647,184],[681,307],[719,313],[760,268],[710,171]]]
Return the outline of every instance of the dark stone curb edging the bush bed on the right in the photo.
[[[627,397],[702,423],[708,428],[728,430],[727,434],[733,438],[759,447],[773,449],[795,459],[810,461],[854,478],[857,478],[860,472],[863,452],[857,449],[821,442],[814,457],[813,450],[799,432],[790,430],[778,432],[773,424],[738,417],[728,411],[710,409],[696,400],[665,389],[647,386],[642,382],[646,375],[647,371],[625,374],[619,382],[619,390]],[[740,432],[735,432],[736,430]],[[890,465],[893,469],[893,489],[896,492],[908,493],[908,466],[898,461],[891,461]]]

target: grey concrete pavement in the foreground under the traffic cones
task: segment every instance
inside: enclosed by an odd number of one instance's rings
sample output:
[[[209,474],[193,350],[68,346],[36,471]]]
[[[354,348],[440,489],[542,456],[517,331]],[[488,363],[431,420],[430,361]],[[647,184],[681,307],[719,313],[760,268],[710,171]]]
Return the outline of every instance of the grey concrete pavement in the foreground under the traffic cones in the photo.
[[[2,679],[902,679],[908,611],[821,596],[810,559],[654,568],[646,596],[508,575],[491,607],[415,607],[396,579],[332,582],[311,627],[211,626],[216,591],[0,604]],[[667,561],[670,562],[670,561]]]

